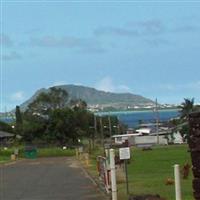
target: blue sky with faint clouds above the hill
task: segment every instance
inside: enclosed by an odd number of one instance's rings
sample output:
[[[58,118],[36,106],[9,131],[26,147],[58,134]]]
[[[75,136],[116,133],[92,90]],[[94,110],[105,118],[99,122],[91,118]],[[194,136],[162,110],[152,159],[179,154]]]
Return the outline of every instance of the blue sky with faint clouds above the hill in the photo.
[[[1,107],[76,84],[200,102],[200,1],[1,0]]]

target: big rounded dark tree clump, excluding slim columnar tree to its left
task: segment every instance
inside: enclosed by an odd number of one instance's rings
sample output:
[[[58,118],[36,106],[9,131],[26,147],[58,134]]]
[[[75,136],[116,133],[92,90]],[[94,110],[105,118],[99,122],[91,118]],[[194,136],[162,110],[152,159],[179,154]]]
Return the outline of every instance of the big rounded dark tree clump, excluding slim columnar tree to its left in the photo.
[[[93,114],[86,102],[68,101],[68,93],[60,88],[41,93],[24,113],[24,139],[64,144],[89,136]]]

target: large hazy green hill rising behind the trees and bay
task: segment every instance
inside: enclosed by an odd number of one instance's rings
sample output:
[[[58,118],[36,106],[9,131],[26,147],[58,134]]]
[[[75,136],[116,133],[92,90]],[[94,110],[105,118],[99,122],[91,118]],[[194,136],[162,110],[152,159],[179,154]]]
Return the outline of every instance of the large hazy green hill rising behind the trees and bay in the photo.
[[[62,88],[69,94],[70,99],[82,99],[86,101],[89,106],[99,105],[102,107],[133,107],[133,106],[147,106],[154,102],[148,98],[131,93],[112,93],[99,91],[94,88],[77,86],[77,85],[61,85],[55,86]],[[21,110],[25,110],[29,103],[31,103],[41,92],[48,92],[49,89],[38,90],[30,99],[20,105]]]

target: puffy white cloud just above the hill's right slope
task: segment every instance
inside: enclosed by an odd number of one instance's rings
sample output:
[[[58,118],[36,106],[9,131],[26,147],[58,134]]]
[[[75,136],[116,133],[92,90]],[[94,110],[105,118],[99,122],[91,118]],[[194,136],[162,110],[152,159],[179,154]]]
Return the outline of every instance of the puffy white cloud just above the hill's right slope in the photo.
[[[131,92],[131,89],[126,85],[116,85],[109,76],[98,81],[95,88],[105,92]]]

